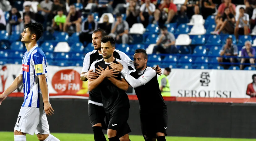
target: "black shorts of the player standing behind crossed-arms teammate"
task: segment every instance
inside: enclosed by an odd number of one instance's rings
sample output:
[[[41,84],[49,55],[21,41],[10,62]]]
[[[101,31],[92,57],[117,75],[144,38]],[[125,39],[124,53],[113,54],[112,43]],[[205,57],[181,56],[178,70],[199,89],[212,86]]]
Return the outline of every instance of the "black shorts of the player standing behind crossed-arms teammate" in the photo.
[[[104,107],[98,106],[92,103],[88,105],[88,115],[90,119],[91,126],[101,123],[102,129],[106,130],[105,117],[106,113]]]

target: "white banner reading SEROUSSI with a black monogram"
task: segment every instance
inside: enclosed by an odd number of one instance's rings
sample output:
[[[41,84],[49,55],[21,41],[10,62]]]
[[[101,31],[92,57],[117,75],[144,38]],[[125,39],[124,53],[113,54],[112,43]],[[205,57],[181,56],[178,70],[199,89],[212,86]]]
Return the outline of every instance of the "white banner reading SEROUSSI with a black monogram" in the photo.
[[[171,96],[248,98],[253,70],[172,69],[168,76]]]

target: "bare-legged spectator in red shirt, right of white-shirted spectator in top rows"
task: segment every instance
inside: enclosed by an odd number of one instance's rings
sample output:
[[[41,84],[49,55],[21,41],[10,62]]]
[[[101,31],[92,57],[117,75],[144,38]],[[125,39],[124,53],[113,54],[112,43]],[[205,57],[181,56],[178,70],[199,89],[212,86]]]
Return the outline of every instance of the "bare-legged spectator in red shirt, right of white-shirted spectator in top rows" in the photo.
[[[154,24],[159,24],[166,22],[169,24],[172,21],[172,18],[175,16],[177,12],[177,7],[175,4],[172,3],[173,0],[163,0],[163,3],[159,5],[157,9],[155,9],[154,13]]]

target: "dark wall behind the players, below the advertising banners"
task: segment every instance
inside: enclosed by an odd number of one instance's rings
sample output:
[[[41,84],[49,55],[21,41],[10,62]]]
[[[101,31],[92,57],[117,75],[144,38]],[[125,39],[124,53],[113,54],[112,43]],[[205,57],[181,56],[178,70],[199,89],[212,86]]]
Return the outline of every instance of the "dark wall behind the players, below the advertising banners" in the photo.
[[[22,98],[7,98],[0,106],[0,131],[13,131]],[[51,99],[51,132],[92,133],[87,99]],[[256,104],[166,102],[169,136],[256,138]],[[131,134],[141,135],[139,102],[130,101]],[[105,132],[106,133],[106,132]]]

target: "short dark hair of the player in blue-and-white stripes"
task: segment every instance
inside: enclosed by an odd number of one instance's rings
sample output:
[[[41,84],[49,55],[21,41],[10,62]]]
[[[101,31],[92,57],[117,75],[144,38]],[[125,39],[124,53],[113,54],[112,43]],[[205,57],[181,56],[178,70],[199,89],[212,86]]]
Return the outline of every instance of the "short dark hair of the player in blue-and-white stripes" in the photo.
[[[28,28],[31,34],[35,34],[37,41],[43,34],[43,25],[41,23],[28,23],[24,25],[24,29]]]

